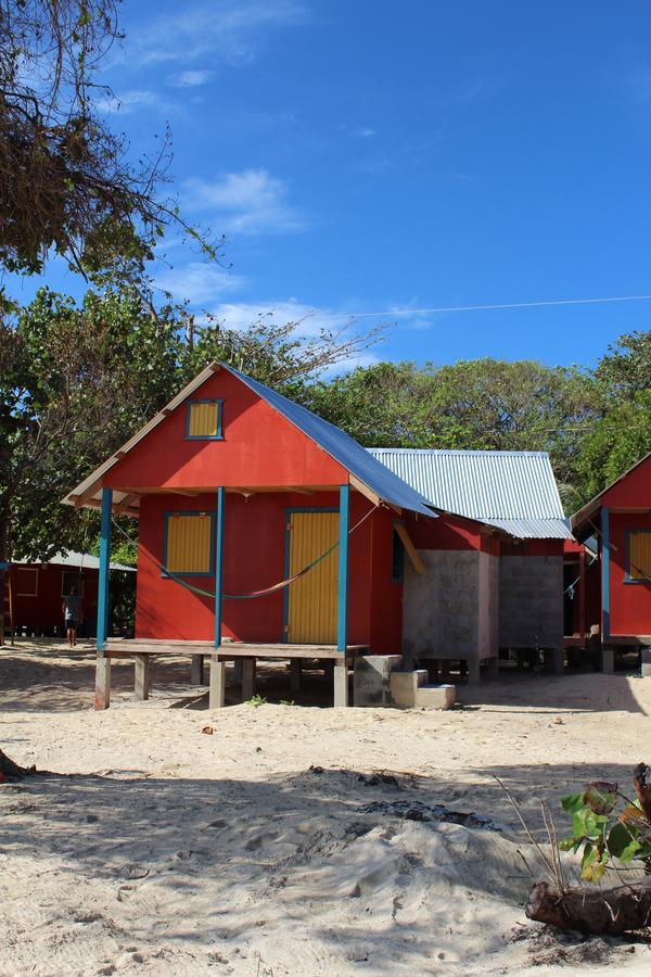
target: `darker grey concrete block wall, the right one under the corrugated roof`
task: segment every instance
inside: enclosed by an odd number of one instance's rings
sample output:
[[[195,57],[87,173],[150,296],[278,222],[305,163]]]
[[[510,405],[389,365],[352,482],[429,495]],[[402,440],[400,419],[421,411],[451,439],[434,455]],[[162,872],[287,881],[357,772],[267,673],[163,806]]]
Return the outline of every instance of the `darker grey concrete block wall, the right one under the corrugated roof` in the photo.
[[[502,556],[500,648],[556,648],[563,642],[562,556]]]

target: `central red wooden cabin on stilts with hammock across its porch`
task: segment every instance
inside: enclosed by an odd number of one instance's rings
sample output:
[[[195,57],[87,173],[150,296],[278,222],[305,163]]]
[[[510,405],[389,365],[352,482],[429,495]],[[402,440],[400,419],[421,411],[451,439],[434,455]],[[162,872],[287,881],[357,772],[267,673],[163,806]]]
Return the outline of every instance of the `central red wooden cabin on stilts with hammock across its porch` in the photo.
[[[399,651],[396,530],[414,555],[406,517],[435,518],[343,431],[224,365],[205,369],[66,502],[102,507],[100,706],[110,652],[144,656],[156,642],[212,652],[217,698],[229,654],[291,658],[296,648],[345,665],[361,648]],[[102,568],[115,512],[139,521],[129,648],[106,646]]]

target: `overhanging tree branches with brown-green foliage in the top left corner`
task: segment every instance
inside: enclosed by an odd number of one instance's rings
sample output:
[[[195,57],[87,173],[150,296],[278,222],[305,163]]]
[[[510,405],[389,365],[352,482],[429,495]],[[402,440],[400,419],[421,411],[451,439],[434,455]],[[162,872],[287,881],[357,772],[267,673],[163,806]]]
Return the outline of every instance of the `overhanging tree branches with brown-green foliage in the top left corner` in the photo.
[[[119,41],[117,0],[0,0],[0,264],[41,271],[49,252],[92,277],[136,281],[169,224],[217,245],[161,195],[169,135],[133,163],[98,110],[98,69]]]

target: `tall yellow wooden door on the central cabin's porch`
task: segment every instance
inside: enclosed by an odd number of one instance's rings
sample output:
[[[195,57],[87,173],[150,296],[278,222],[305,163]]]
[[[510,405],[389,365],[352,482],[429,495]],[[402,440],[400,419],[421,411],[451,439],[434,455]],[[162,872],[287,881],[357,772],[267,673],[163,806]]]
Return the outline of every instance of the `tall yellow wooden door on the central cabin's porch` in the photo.
[[[292,512],[290,576],[326,553],[339,538],[336,512]],[[335,547],[289,586],[288,640],[295,645],[336,644],[337,566]]]

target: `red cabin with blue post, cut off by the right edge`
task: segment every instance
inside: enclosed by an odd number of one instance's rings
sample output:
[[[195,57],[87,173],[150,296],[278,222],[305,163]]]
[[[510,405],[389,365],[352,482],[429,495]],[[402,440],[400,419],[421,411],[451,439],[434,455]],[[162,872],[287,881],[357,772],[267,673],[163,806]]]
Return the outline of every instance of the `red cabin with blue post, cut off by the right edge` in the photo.
[[[651,455],[572,517],[577,540],[596,535],[604,668],[616,647],[651,646]]]

